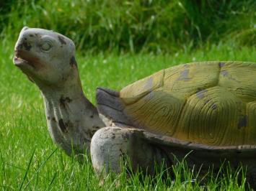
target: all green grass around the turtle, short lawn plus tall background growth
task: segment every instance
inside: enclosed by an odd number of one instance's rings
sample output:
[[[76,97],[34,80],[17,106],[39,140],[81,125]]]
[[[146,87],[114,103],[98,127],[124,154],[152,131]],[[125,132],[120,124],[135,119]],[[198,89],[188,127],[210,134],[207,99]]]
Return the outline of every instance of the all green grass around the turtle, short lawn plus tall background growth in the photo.
[[[1,190],[246,190],[245,170],[198,177],[181,162],[175,175],[110,174],[104,184],[89,157],[80,164],[53,144],[43,99],[13,64],[24,26],[54,29],[74,40],[84,93],[120,90],[163,68],[187,62],[256,62],[256,1],[0,1]],[[238,180],[238,177],[242,177]]]

